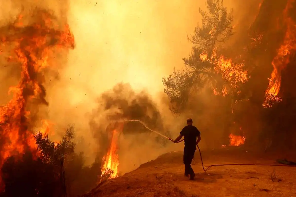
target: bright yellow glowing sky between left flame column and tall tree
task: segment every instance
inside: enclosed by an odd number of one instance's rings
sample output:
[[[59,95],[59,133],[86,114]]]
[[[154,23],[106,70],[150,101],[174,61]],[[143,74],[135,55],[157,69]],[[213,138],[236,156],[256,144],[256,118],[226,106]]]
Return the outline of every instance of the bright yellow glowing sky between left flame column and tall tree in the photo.
[[[162,77],[183,66],[191,50],[186,36],[197,25],[196,2],[71,1],[77,47],[64,73],[65,81],[72,79],[68,91],[84,95],[87,87],[99,93],[118,82],[152,94],[162,91]]]

